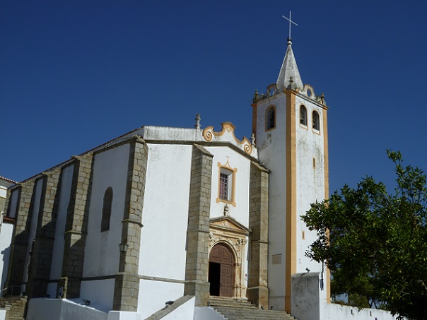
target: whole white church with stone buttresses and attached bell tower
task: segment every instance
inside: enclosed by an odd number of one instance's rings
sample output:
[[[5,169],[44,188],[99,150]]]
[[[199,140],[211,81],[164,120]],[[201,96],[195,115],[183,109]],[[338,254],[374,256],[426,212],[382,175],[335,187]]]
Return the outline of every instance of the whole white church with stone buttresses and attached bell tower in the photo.
[[[294,314],[293,277],[310,273],[328,302],[300,220],[329,194],[327,110],[288,38],[276,83],[255,92],[250,138],[199,115],[194,128],[141,126],[11,186],[4,287],[28,295],[30,315],[44,298],[146,319],[186,296],[193,309],[221,297]]]

